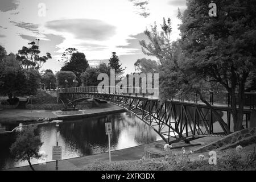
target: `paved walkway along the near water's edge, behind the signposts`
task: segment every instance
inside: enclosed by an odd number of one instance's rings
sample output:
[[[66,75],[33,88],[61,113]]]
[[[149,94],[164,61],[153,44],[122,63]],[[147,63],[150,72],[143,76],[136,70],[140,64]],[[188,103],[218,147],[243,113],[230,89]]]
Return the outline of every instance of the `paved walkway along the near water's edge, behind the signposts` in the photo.
[[[214,142],[220,138],[217,137],[205,137],[195,140],[195,143],[201,143],[200,146],[192,146],[192,147],[185,147],[187,151],[195,150],[196,148],[202,147],[205,144],[208,144],[210,142]],[[157,142],[143,144],[141,146],[137,147],[131,147],[126,148],[122,150],[112,151],[112,161],[118,162],[123,160],[139,160],[142,159],[142,156],[144,155],[144,147],[146,146],[164,146],[163,140],[159,140]],[[181,153],[181,148],[175,148],[172,150],[173,154]],[[96,155],[89,155],[89,156],[83,156],[80,158],[73,158],[73,159],[65,159],[60,160],[58,163],[59,171],[72,171],[72,170],[79,170],[84,168],[88,164],[93,164],[97,160],[101,161],[109,161],[109,153],[103,153],[103,154],[96,154]],[[36,164],[33,167],[35,170],[38,171],[55,171],[56,162],[48,162],[46,164]],[[31,170],[29,166],[24,167],[18,167],[18,168],[12,168],[7,169],[10,171],[27,171]]]

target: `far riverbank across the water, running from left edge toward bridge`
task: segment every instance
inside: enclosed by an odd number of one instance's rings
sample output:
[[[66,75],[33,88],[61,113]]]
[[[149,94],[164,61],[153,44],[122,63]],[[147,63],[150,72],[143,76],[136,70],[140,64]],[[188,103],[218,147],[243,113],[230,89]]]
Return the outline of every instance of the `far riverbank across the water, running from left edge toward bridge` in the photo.
[[[36,122],[54,119],[78,119],[125,111],[121,107],[108,105],[83,110],[79,115],[57,115],[52,110],[4,109],[0,111],[0,123]]]

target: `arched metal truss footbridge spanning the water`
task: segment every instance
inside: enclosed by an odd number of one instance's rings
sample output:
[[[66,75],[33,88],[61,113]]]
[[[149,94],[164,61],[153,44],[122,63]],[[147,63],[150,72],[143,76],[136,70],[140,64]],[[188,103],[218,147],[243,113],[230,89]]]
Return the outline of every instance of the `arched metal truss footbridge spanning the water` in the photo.
[[[216,103],[216,100],[215,102],[213,100],[213,93],[210,93],[209,101],[212,105],[207,106],[197,99],[181,101],[172,98],[163,103],[158,98],[146,94],[99,93],[97,87],[59,89],[57,92],[64,102],[83,100],[88,97],[112,102],[147,123],[166,143],[180,140],[189,142],[189,140],[206,136],[224,137],[228,134],[227,128],[232,131],[229,96]],[[250,104],[245,103],[243,127],[248,127],[251,110],[254,109],[255,94],[250,93],[249,97]],[[226,126],[220,122],[219,114],[225,120]]]

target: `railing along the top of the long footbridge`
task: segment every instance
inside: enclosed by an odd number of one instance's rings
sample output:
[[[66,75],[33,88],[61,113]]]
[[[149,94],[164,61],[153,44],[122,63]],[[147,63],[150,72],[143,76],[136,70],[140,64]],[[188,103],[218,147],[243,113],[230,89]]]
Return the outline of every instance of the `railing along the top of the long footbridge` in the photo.
[[[118,93],[116,92],[113,87],[106,87],[105,90],[102,90],[101,92],[98,92],[97,86],[80,86],[80,87],[73,87],[73,88],[62,88],[57,89],[57,92],[59,93],[85,93],[85,92],[92,92],[92,93],[108,93],[108,94],[124,94],[129,96],[135,96],[135,97],[147,97],[147,98],[154,98],[158,99],[159,90],[158,89],[152,89],[147,88],[147,93],[142,93],[142,88],[136,88],[133,87],[133,93],[129,93],[129,87],[126,87],[124,89],[127,89],[126,93]],[[148,90],[151,90],[150,93],[148,93]],[[114,92],[113,92],[114,90]],[[137,93],[135,93],[135,90],[137,90]],[[203,92],[203,96],[205,99],[209,102],[211,105],[225,105],[225,106],[231,106],[232,99],[228,92],[222,91],[222,92]],[[175,101],[182,101],[182,102],[195,102],[200,103],[200,98],[197,96],[197,94],[191,94],[191,96],[184,98],[182,96],[174,96],[171,97],[170,100]],[[238,100],[238,97],[237,97]],[[255,92],[245,92],[245,100],[243,101],[243,104],[248,109],[256,109],[256,93]]]

